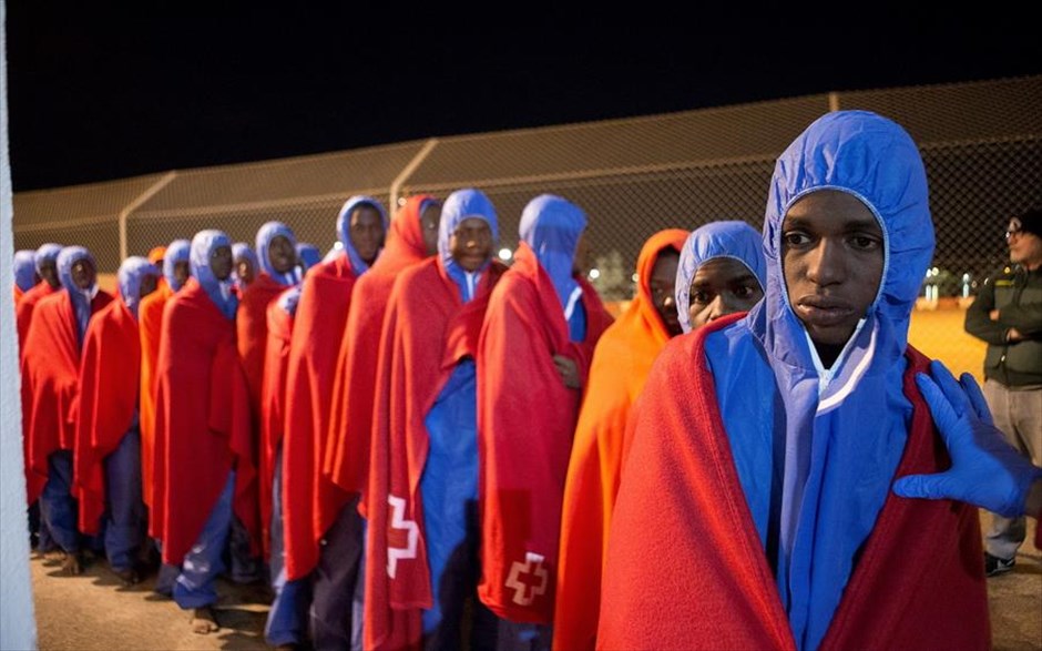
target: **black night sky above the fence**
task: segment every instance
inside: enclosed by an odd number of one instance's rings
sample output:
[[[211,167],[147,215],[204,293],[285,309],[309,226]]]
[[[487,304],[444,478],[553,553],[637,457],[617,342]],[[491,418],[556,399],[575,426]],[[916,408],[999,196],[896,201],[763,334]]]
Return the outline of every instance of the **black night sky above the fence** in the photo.
[[[241,12],[215,9],[226,7],[218,2],[127,3],[119,11],[53,4],[7,4],[16,192],[430,136],[1042,71],[1042,38],[1026,6],[1001,18],[979,8],[948,7],[934,16],[832,6],[865,13],[851,18],[733,2],[733,10],[712,13],[689,4],[692,17],[555,10],[494,20],[490,13],[476,22],[440,7],[362,14],[358,2]]]

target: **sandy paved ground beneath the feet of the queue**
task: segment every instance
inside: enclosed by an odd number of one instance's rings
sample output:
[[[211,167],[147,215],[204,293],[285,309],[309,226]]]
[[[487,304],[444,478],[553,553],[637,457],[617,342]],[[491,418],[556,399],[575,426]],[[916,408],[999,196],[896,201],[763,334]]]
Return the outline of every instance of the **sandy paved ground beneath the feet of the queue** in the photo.
[[[1034,527],[1032,521],[1029,537]],[[60,577],[58,564],[40,558],[31,563],[42,651],[269,648],[263,634],[269,596],[263,589],[222,582],[222,629],[197,635],[187,612],[155,598],[152,579],[122,589],[101,562],[80,577]],[[988,589],[995,651],[1042,651],[1042,552],[1026,543],[1013,571],[989,579]]]

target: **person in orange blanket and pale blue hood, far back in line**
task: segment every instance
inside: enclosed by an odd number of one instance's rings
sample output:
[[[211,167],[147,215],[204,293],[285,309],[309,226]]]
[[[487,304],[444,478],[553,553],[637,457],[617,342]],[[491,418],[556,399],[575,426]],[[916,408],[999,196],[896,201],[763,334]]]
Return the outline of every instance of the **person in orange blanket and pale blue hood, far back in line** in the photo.
[[[152,507],[152,460],[155,458],[155,363],[160,356],[163,309],[171,296],[181,289],[184,284],[182,278],[191,275],[191,247],[192,243],[187,240],[174,240],[165,247],[163,276],[159,286],[155,292],[143,297],[137,306],[137,333],[141,337],[141,490],[149,508]]]

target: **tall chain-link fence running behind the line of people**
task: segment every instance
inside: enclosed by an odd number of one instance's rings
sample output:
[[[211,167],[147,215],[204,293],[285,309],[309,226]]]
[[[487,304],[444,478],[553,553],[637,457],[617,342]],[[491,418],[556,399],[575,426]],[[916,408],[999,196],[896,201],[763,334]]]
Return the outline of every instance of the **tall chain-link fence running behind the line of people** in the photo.
[[[759,228],[775,159],[807,124],[837,109],[887,115],[919,144],[937,227],[923,306],[957,308],[1005,262],[1009,216],[1042,205],[1042,75],[431,139],[16,193],[14,243],[82,244],[112,273],[125,255],[202,228],[253,244],[264,222],[280,220],[299,241],[327,250],[337,212],[354,194],[391,206],[421,192],[445,197],[473,186],[494,202],[500,247],[512,250],[524,204],[551,192],[586,211],[591,277],[606,301],[626,301],[637,253],[655,231],[734,218]],[[913,319],[913,343],[939,357],[969,353],[967,360],[946,360],[978,373],[980,348],[961,332],[960,315],[948,316],[919,335],[926,340],[916,339]]]

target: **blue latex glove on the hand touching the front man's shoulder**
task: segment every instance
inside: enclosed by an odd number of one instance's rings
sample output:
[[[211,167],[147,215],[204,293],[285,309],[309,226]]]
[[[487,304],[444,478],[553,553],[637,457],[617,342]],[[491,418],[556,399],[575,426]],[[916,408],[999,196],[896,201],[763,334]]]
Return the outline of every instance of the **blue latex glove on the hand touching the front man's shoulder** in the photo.
[[[951,468],[936,475],[909,475],[893,484],[901,497],[956,499],[1005,518],[1024,515],[1031,484],[1042,477],[1036,468],[992,424],[991,411],[977,380],[969,373],[957,382],[940,362],[930,363],[930,376],[916,384],[930,406]]]

